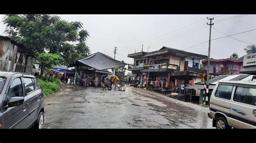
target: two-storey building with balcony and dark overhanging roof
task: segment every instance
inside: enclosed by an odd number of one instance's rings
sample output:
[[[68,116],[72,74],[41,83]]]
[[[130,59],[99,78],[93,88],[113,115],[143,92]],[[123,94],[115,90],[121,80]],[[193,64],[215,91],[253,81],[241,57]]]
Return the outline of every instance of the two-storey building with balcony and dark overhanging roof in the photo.
[[[142,77],[149,74],[149,78],[167,78],[171,75],[171,86],[180,86],[181,82],[196,83],[201,81],[200,60],[206,55],[182,51],[180,49],[162,47],[158,51],[138,52],[129,54],[133,58],[133,64],[127,70],[131,70],[134,76]]]

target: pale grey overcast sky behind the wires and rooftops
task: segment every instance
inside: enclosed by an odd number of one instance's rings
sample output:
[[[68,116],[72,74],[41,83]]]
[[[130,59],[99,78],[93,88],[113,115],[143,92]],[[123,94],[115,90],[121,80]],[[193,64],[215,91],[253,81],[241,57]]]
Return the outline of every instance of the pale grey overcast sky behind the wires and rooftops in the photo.
[[[128,52],[134,53],[135,49],[136,52],[142,51],[142,44],[144,44],[143,51],[147,52],[149,47],[149,51],[151,52],[163,46],[186,49],[207,41],[209,39],[210,26],[206,25],[206,17],[213,15],[58,16],[68,22],[78,21],[84,24],[84,28],[90,33],[87,44],[92,53],[102,52],[113,57],[113,49],[116,46],[118,47],[116,59],[124,60],[126,63],[133,63],[133,59],[127,58],[127,54]],[[214,25],[212,27],[228,35],[256,28],[256,15],[246,15],[237,18],[234,16],[237,15],[214,15]],[[4,15],[0,15],[0,34],[5,35],[3,33],[5,30],[5,25],[2,23],[3,17]],[[229,17],[230,20],[226,19]],[[217,21],[220,19],[224,19],[225,21],[218,23]],[[182,29],[179,30],[180,28]],[[224,34],[212,29],[212,39],[224,36]],[[256,30],[233,35],[233,37],[251,44],[256,44]],[[238,53],[240,57],[245,54],[243,49],[248,45],[230,37],[213,40],[211,42],[211,58],[228,58],[233,52]],[[207,55],[208,42],[186,49],[185,51]]]

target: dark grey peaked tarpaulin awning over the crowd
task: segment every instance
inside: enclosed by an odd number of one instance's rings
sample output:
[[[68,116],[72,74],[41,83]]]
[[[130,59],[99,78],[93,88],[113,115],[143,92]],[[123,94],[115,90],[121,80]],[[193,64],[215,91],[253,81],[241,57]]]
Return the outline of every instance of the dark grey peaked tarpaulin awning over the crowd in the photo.
[[[127,63],[113,59],[111,56],[97,52],[83,59],[77,60],[75,66],[87,66],[98,70],[111,69],[128,65]]]

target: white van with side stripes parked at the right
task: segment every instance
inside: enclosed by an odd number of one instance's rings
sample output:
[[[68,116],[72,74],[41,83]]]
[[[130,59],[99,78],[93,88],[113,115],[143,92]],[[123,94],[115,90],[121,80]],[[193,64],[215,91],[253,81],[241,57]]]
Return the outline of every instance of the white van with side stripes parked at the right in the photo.
[[[213,127],[256,128],[256,82],[226,81],[215,85],[208,117]]]

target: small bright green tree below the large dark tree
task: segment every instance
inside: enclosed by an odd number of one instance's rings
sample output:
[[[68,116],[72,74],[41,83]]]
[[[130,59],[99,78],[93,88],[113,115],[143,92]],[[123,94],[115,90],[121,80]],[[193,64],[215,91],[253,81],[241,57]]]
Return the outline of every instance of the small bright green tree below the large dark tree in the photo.
[[[37,60],[41,62],[41,77],[44,73],[45,68],[51,69],[53,66],[60,65],[64,59],[59,54],[52,54],[52,53],[41,53],[38,54]]]

